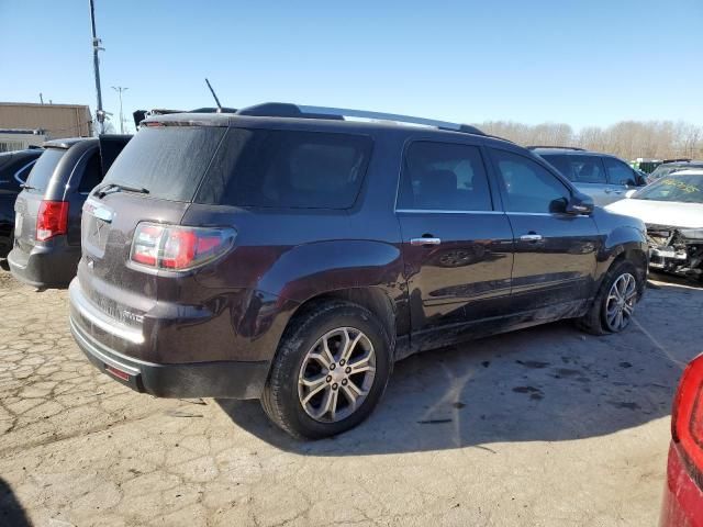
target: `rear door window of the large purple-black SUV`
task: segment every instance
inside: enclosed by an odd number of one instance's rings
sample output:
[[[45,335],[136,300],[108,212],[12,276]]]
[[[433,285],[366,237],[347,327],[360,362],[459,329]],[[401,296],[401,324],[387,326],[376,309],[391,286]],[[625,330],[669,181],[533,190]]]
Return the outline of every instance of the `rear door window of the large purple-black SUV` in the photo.
[[[493,204],[479,148],[413,143],[403,162],[398,209],[491,211]]]

